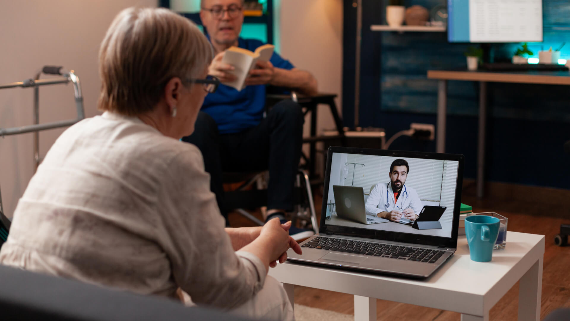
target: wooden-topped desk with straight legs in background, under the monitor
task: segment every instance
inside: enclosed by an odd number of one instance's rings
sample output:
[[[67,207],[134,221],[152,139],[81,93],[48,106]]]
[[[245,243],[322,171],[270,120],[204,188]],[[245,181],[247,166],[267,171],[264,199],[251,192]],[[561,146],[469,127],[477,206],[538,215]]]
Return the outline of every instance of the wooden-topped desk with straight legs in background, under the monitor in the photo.
[[[483,197],[485,122],[487,117],[487,82],[536,83],[570,85],[569,71],[467,71],[428,70],[428,79],[438,79],[437,140],[435,151],[445,153],[445,118],[447,113],[447,81],[479,82],[479,137],[477,147],[477,196]]]

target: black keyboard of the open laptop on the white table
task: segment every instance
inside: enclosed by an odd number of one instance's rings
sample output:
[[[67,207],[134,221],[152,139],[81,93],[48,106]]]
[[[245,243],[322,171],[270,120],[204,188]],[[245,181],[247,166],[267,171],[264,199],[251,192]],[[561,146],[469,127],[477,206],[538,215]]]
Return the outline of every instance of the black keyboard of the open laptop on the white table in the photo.
[[[323,236],[317,236],[301,247],[425,263],[435,263],[445,254],[445,251],[430,250],[429,248],[380,244],[351,239],[324,238]]]

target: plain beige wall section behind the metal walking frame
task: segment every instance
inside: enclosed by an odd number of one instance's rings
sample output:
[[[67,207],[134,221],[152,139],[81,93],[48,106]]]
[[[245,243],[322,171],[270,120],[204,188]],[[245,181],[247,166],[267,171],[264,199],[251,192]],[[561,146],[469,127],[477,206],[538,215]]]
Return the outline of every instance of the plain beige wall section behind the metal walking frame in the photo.
[[[99,114],[97,51],[105,31],[121,9],[156,5],[157,0],[2,1],[0,83],[33,78],[43,65],[62,65],[75,70],[82,82],[86,116]],[[42,86],[39,92],[40,122],[75,118],[71,85]],[[0,127],[31,125],[32,98],[33,89],[0,90]],[[63,130],[40,132],[42,156]],[[33,168],[32,134],[0,138],[0,187],[8,217]]]

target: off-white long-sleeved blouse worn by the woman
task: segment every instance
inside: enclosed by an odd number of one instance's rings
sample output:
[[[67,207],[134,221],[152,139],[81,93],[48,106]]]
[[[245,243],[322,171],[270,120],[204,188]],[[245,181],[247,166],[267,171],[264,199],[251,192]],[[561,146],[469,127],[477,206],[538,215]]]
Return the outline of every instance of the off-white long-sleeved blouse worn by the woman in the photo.
[[[67,129],[18,202],[0,263],[230,309],[267,271],[234,252],[200,150],[138,118]]]

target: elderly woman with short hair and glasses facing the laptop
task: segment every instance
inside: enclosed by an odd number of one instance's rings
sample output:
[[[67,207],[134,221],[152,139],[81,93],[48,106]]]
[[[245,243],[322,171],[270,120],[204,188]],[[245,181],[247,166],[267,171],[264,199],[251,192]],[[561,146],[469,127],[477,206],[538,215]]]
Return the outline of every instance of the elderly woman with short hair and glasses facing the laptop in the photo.
[[[166,9],[126,9],[99,51],[101,116],[66,130],[14,213],[0,262],[176,298],[242,315],[292,319],[269,266],[290,222],[226,228],[192,134],[207,92],[210,43]],[[261,291],[261,292],[259,292]]]

